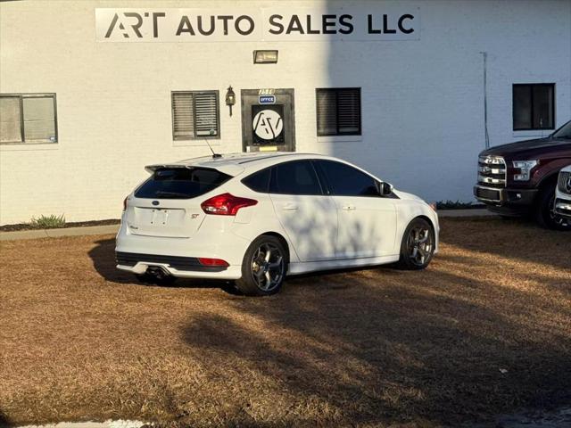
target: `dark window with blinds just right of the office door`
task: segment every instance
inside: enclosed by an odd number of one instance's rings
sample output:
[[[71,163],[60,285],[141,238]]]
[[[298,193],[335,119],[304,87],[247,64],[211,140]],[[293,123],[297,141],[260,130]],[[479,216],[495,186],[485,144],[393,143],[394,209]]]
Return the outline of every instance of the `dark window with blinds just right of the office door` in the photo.
[[[360,87],[316,89],[318,136],[360,136]]]

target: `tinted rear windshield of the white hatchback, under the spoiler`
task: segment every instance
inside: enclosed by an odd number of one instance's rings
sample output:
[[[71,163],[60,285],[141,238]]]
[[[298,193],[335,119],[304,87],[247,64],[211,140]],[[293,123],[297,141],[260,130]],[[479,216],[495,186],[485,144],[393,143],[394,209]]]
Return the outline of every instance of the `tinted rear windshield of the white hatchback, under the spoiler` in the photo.
[[[190,199],[208,193],[231,177],[216,169],[157,169],[135,192],[136,198]]]

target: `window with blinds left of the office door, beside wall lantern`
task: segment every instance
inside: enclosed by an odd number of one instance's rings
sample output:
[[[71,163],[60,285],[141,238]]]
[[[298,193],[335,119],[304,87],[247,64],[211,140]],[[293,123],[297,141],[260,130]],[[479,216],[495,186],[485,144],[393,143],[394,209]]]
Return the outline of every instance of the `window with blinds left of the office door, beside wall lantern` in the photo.
[[[172,138],[219,138],[218,91],[172,93]]]

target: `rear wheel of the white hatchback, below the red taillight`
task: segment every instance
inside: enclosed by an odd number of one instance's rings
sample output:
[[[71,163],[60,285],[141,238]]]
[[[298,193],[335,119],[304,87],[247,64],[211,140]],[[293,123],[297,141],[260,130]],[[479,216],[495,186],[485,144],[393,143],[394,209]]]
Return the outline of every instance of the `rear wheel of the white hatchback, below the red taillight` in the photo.
[[[261,235],[248,247],[242,277],[236,288],[248,296],[269,296],[282,288],[288,263],[284,243],[276,236]]]

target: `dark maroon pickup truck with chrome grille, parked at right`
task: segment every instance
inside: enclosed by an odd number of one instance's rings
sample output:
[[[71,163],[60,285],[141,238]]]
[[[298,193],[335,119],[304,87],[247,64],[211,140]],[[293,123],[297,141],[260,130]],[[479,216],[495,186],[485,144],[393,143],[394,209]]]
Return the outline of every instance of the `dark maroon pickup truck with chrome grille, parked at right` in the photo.
[[[571,121],[546,138],[481,152],[474,195],[501,216],[532,215],[541,226],[571,230],[571,223],[553,211],[559,169],[569,163]]]

